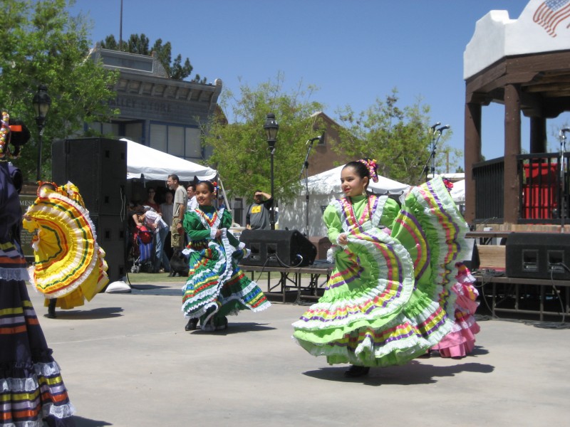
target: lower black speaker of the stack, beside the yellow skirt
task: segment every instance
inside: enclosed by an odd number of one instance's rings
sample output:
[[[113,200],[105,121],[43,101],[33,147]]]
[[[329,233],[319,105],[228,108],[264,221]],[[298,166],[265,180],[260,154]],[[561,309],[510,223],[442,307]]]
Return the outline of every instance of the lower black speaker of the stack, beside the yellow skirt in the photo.
[[[105,251],[109,281],[125,277],[125,251],[127,233],[125,224],[118,215],[90,215],[97,233],[97,243]]]

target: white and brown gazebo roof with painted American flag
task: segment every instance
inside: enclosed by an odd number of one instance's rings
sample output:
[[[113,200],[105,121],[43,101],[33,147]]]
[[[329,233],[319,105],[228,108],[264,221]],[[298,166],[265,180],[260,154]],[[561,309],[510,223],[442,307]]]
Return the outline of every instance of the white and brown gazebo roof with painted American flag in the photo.
[[[466,101],[504,102],[517,84],[527,116],[557,117],[570,110],[570,0],[531,0],[519,19],[489,11],[465,48]]]

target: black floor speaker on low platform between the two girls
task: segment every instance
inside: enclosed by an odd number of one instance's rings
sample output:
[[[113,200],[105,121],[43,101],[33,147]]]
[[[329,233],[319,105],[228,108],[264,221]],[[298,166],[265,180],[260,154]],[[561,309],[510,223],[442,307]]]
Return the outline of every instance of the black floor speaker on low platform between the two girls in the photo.
[[[304,267],[316,257],[314,244],[297,230],[244,230],[239,241],[252,251],[244,265]]]

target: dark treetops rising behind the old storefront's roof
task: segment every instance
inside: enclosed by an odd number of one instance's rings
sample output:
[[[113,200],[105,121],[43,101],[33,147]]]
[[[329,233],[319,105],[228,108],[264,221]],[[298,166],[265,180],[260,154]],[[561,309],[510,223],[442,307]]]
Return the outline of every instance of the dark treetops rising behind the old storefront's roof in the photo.
[[[127,42],[123,42],[122,48],[120,48],[119,43],[115,40],[115,36],[111,34],[105,37],[104,41],[100,41],[100,46],[104,49],[110,49],[112,51],[122,50],[129,53],[138,53],[140,55],[150,55],[152,52],[157,53],[158,60],[165,68],[166,73],[172,80],[184,80],[189,75],[192,74],[192,64],[190,64],[190,59],[186,58],[184,64],[182,64],[182,55],[180,53],[176,56],[174,61],[172,61],[172,45],[170,41],[162,44],[162,38],[157,39],[152,48],[148,48],[149,39],[144,33],[131,34]],[[195,78],[191,80],[196,83],[206,83],[207,79],[200,78],[199,74],[195,75]]]

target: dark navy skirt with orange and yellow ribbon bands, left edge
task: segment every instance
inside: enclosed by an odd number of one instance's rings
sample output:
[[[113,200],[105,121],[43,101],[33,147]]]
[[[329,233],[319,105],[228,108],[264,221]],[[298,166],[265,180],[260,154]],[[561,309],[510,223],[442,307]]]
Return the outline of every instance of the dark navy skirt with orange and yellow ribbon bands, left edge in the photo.
[[[0,244],[0,425],[75,426],[58,364],[28,297],[19,248]]]

